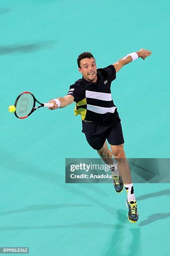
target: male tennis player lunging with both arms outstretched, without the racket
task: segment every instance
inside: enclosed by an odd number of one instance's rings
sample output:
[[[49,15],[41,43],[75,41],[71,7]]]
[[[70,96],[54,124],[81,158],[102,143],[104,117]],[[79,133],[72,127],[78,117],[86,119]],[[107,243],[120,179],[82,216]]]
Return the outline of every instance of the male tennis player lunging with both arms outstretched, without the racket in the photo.
[[[50,100],[54,110],[65,108],[75,102],[75,115],[81,115],[82,132],[85,133],[87,142],[102,160],[109,165],[114,164],[112,156],[116,159],[118,170],[112,168],[112,177],[115,191],[122,192],[123,183],[128,197],[128,219],[136,223],[138,220],[137,202],[135,199],[133,183],[130,175],[130,168],[125,158],[124,138],[122,126],[117,107],[115,106],[110,86],[116,78],[116,73],[126,64],[138,58],[145,60],[151,55],[148,49],[130,53],[119,61],[105,68],[97,69],[95,58],[90,52],[83,52],[78,56],[78,70],[82,78],[70,86],[65,97],[58,97]],[[110,144],[110,149],[107,142]]]

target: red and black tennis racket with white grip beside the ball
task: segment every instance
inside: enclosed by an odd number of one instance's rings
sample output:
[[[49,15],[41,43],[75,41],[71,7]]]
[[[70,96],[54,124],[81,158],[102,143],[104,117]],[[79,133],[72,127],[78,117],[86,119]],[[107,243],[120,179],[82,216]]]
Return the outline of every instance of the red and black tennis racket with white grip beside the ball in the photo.
[[[39,103],[40,105],[35,107],[35,103]],[[28,118],[35,110],[41,107],[50,108],[53,106],[52,103],[41,103],[39,102],[35,96],[31,92],[23,92],[21,93],[17,99],[15,100],[15,116],[20,119]]]

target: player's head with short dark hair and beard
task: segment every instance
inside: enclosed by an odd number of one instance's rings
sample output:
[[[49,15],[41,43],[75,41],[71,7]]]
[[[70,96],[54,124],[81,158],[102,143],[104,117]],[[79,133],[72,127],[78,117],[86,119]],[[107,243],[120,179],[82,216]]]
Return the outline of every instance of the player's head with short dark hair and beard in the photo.
[[[90,52],[83,52],[77,59],[78,70],[82,76],[89,82],[97,81],[97,67],[95,58]]]

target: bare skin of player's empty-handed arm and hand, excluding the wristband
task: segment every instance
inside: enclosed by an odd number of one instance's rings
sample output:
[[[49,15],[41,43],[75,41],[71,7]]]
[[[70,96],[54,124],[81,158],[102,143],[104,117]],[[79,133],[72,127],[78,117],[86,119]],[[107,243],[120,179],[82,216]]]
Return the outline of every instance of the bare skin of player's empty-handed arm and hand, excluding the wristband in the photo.
[[[140,51],[137,51],[136,54],[138,54],[138,58],[142,58],[145,60],[146,57],[150,56],[152,54],[152,51],[148,51],[148,49],[140,49]],[[118,72],[123,66],[133,61],[133,58],[130,55],[126,55],[125,57],[121,58],[119,61],[115,62],[113,66],[116,69],[116,72]]]

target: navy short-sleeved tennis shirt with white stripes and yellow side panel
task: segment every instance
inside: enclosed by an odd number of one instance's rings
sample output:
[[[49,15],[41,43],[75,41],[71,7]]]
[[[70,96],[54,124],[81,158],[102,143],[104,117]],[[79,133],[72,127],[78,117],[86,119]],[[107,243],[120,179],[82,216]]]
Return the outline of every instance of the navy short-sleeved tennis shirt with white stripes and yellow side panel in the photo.
[[[113,65],[97,69],[97,82],[89,82],[84,77],[70,85],[67,95],[74,97],[75,115],[84,121],[110,122],[117,111],[112,100],[111,82],[116,78]],[[117,113],[118,114],[118,113]]]

